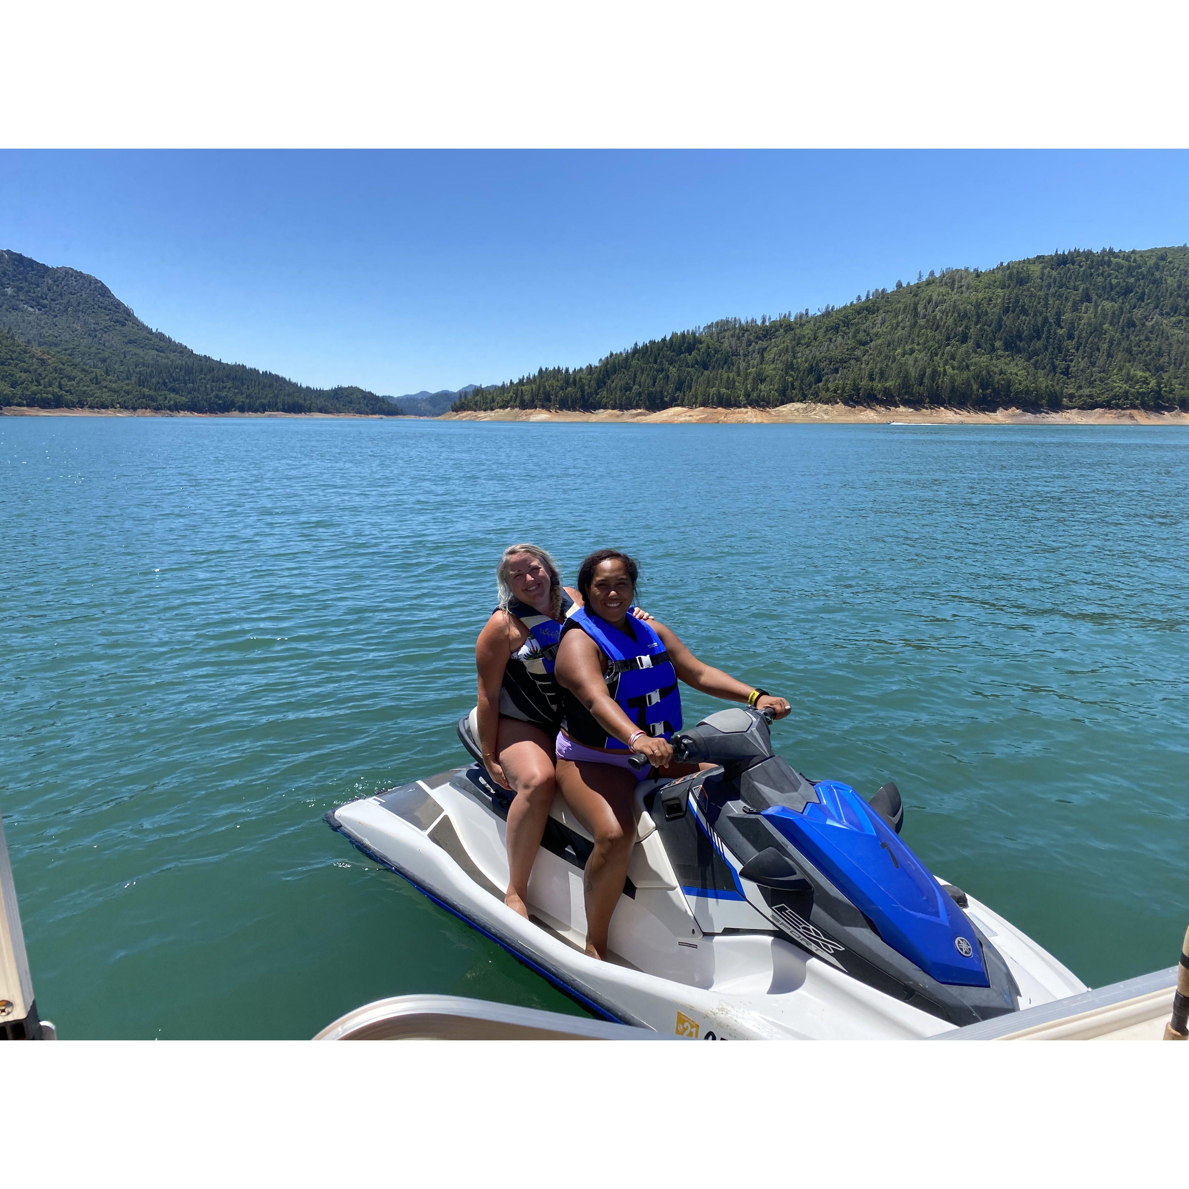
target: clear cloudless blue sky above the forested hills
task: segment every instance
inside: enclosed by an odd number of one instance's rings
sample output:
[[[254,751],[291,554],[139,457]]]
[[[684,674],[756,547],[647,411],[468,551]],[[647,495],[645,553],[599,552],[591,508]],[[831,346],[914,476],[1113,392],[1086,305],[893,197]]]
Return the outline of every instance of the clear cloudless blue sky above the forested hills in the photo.
[[[1184,151],[0,152],[0,247],[196,351],[391,395],[1185,241]]]

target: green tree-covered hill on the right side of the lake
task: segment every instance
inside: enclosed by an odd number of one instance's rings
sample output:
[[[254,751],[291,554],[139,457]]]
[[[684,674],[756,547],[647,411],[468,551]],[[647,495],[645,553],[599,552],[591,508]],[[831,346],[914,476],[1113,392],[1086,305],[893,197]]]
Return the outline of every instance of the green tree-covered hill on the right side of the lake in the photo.
[[[948,269],[775,319],[729,319],[455,410],[847,404],[1189,409],[1189,249]]]

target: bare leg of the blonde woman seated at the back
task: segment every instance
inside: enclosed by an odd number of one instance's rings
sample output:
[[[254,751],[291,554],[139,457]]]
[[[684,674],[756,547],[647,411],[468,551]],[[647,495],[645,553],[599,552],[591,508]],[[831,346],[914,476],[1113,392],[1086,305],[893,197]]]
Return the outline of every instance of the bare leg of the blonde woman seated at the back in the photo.
[[[496,759],[516,795],[508,807],[508,894],[504,904],[528,917],[528,879],[553,804],[553,740],[531,723],[499,719]]]

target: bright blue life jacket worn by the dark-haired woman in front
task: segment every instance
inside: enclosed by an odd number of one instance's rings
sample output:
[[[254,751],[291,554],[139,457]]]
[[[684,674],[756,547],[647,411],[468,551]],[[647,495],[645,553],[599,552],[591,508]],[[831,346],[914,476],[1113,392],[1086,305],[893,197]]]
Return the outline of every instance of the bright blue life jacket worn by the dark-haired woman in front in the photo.
[[[668,738],[681,729],[681,694],[677,687],[677,669],[668,659],[665,643],[644,619],[630,612],[627,631],[614,628],[586,608],[573,611],[562,635],[581,628],[603,649],[608,667],[603,673],[606,692],[623,712],[654,738]],[[562,730],[585,747],[627,751],[619,740],[606,734],[594,716],[568,690],[564,690]]]

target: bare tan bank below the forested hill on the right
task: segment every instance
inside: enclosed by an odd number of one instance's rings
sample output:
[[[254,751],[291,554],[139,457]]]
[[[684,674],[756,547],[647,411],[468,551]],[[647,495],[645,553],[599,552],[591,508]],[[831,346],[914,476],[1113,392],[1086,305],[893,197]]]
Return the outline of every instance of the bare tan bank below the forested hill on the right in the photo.
[[[600,409],[598,413],[549,413],[545,409],[495,409],[484,413],[446,413],[439,421],[570,421],[585,424],[847,424],[900,422],[921,426],[1189,426],[1189,413],[1149,413],[1145,409],[1064,409],[1061,413],[1025,413],[998,409],[854,408],[843,404],[782,404],[775,409],[687,409],[660,413],[646,409]]]

